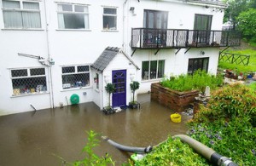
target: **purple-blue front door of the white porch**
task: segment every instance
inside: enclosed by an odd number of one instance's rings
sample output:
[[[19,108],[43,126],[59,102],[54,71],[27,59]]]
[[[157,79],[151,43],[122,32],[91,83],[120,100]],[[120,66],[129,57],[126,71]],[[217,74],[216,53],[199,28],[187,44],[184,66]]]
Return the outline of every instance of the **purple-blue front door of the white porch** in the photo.
[[[126,70],[112,71],[112,83],[115,87],[112,106],[126,105]]]

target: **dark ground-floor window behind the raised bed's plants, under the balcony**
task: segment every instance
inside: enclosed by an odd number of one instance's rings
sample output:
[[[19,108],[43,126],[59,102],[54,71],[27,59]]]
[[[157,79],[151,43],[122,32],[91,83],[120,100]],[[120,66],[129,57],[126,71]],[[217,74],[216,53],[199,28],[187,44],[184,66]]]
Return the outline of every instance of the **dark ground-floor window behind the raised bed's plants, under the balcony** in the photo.
[[[208,72],[209,58],[193,58],[189,59],[188,73],[193,74],[197,70],[205,70]]]

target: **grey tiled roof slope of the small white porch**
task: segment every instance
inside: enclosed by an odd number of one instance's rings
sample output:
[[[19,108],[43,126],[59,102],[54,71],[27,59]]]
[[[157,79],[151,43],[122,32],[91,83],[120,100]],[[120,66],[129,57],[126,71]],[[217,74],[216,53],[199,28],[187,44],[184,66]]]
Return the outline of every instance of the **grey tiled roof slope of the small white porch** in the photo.
[[[103,72],[108,66],[113,57],[119,53],[119,48],[108,47],[105,49],[100,57],[91,65],[92,68]]]

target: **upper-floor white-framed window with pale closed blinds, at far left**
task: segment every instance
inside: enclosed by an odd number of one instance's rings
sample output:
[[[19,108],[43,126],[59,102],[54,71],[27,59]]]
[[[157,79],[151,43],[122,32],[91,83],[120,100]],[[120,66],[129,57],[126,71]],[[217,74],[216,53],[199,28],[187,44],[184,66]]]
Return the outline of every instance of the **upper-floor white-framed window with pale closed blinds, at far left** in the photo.
[[[5,28],[41,28],[39,3],[3,0]]]

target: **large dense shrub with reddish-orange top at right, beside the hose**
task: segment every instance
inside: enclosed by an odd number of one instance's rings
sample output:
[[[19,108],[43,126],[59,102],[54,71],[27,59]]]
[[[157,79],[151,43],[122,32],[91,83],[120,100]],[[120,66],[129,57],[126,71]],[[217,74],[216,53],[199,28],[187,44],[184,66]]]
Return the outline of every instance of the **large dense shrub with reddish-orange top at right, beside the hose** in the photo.
[[[218,89],[189,123],[189,135],[239,165],[256,165],[255,100],[245,85]]]

